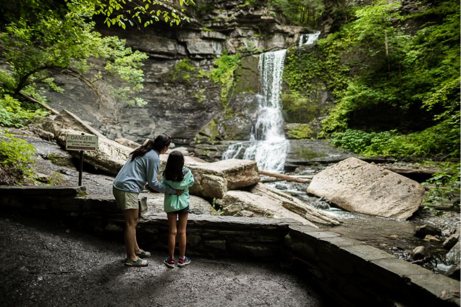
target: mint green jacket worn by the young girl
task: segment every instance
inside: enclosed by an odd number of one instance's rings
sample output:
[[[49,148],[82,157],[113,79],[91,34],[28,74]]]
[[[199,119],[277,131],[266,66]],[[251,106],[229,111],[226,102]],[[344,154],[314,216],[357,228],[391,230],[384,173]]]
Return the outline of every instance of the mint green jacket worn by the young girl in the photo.
[[[175,190],[184,190],[181,195],[165,193],[163,200],[165,212],[178,211],[189,205],[189,187],[194,184],[194,177],[192,176],[192,171],[186,166],[182,168],[182,173],[184,174],[182,181],[166,180],[165,176],[163,176],[162,184],[169,185]]]

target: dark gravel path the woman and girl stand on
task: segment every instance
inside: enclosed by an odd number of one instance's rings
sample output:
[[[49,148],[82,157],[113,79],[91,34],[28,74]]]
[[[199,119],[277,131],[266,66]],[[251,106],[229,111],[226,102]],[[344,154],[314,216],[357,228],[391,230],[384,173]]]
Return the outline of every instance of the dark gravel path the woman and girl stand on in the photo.
[[[120,240],[58,221],[3,214],[0,305],[328,305],[305,280],[271,264],[197,257],[185,268],[168,269],[164,252],[151,250],[148,267],[125,267]]]

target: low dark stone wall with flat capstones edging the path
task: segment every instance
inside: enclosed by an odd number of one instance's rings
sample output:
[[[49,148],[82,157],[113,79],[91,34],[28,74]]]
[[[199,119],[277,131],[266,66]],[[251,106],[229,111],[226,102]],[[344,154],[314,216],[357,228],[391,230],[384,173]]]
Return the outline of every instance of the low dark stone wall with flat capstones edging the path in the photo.
[[[3,210],[67,216],[86,229],[121,237],[115,200],[84,194],[85,187],[0,186],[0,204]],[[146,212],[138,228],[140,242],[166,251],[165,213]],[[290,219],[191,214],[187,245],[190,255],[278,261],[341,306],[460,305],[459,281]]]

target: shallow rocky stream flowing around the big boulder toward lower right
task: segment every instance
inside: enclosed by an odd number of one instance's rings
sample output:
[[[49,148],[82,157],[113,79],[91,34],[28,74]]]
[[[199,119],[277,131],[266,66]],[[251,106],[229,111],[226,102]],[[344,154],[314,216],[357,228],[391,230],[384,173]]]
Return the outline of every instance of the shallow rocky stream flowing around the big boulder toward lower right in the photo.
[[[326,166],[325,164],[320,168],[323,169]],[[290,175],[315,174],[321,170],[319,167],[302,167],[302,170],[299,169]],[[307,184],[287,181],[266,182],[266,184],[338,218],[343,223],[340,226],[330,227],[333,232],[359,240],[409,262],[413,261],[411,257],[413,249],[424,246],[430,251],[432,259],[423,266],[436,273],[445,273],[454,265],[453,262],[447,260],[446,253],[448,250],[444,249],[442,244],[445,237],[450,235],[459,225],[459,211],[447,211],[442,217],[438,217],[433,212],[420,208],[408,220],[399,220],[345,211],[317,196],[307,195]],[[425,224],[442,230],[439,241],[425,241],[413,235],[417,226]]]

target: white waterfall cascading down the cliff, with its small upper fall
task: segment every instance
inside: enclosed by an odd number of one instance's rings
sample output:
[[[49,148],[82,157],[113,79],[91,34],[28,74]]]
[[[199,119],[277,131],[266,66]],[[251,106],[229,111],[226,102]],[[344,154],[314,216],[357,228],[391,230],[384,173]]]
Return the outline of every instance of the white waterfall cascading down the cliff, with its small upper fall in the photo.
[[[300,46],[310,45],[320,35],[320,31],[301,35]],[[307,37],[304,42],[304,37]],[[283,132],[283,117],[280,105],[283,64],[286,49],[262,53],[259,57],[260,72],[257,95],[259,107],[256,123],[252,128],[249,142],[239,142],[227,148],[223,159],[240,158],[255,160],[259,169],[283,171],[289,142]]]

